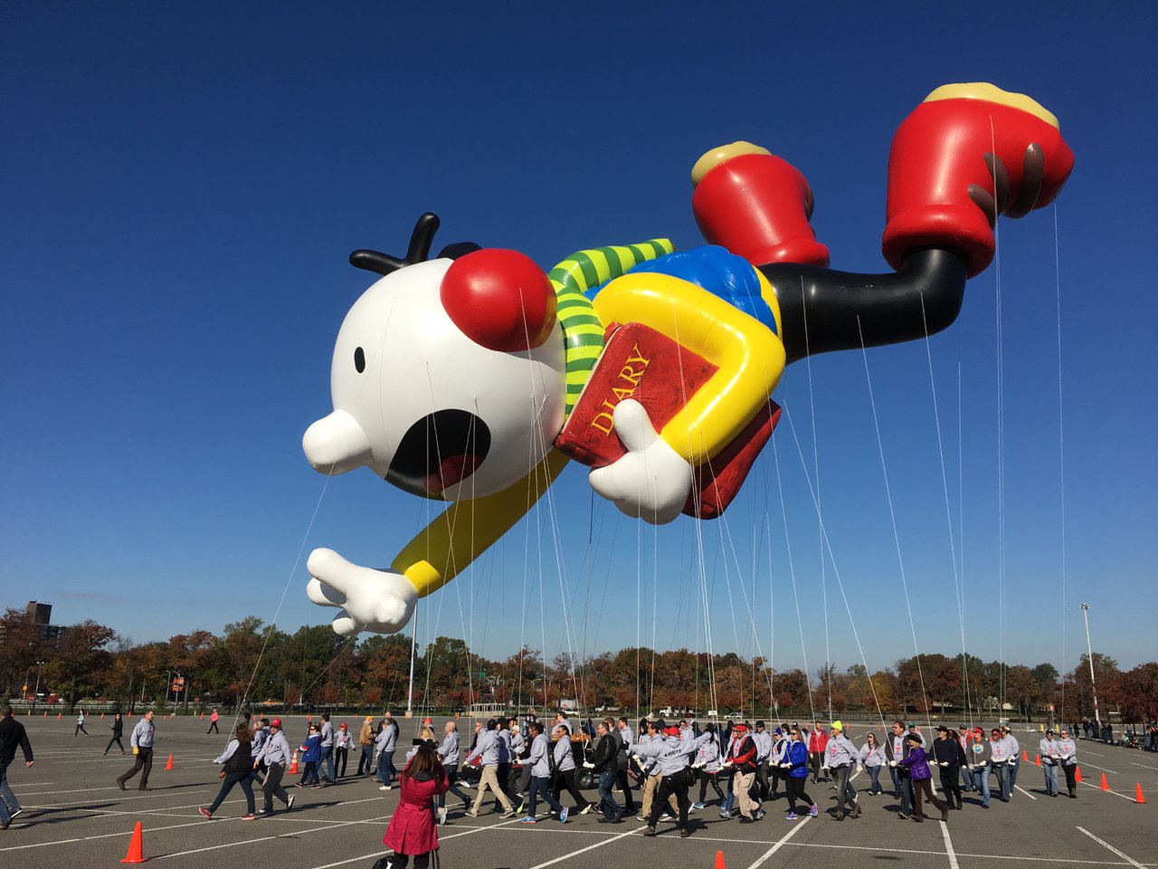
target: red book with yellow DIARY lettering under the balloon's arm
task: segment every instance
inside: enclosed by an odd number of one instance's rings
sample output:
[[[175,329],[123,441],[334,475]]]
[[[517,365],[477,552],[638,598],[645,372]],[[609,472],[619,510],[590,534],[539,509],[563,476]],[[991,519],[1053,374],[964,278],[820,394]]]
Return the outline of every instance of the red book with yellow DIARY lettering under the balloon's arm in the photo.
[[[592,468],[610,465],[626,453],[615,433],[616,404],[635,399],[647,410],[655,430],[661,431],[717,370],[648,326],[613,323],[603,352],[555,446]],[[701,519],[723,513],[778,419],[779,407],[769,401],[739,437],[710,462],[697,467],[683,512]]]

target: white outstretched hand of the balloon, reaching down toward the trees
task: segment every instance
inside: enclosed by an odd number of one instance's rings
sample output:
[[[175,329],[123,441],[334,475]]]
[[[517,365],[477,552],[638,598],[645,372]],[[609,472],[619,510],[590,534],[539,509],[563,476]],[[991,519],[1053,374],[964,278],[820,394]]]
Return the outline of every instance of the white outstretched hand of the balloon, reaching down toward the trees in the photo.
[[[401,574],[352,564],[332,549],[315,549],[306,567],[313,577],[306,584],[309,599],[342,607],[334,616],[336,634],[396,634],[410,621],[418,590]]]

